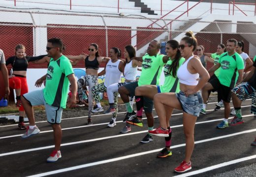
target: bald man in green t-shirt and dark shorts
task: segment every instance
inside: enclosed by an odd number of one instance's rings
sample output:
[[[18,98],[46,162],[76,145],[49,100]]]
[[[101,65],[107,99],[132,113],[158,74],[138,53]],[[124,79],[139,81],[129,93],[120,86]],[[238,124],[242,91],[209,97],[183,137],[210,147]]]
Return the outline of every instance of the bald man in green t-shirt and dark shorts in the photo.
[[[139,81],[136,82],[130,82],[118,89],[118,92],[121,95],[122,100],[124,101],[126,108],[127,108],[127,116],[126,116],[126,122],[127,125],[124,128],[127,128],[128,131],[130,131],[129,124],[137,125],[142,127],[142,116],[135,116],[136,113],[132,110],[132,107],[129,104],[129,97],[133,97],[135,95],[135,89],[142,85],[159,85],[160,80],[160,74],[162,71],[162,68],[164,64],[168,61],[168,57],[164,55],[160,55],[160,42],[153,40],[150,42],[147,54],[145,54],[142,58],[136,58],[139,61],[142,62],[142,71],[139,78]],[[140,110],[142,111],[144,107],[144,111],[148,120],[148,129],[153,130],[154,128],[154,117],[153,117],[153,105],[154,102],[152,99],[149,99],[147,97],[135,97],[136,104],[141,105]],[[129,119],[131,117],[134,117],[133,119]],[[127,131],[127,132],[128,132]],[[121,131],[122,133],[125,133],[125,131]],[[142,140],[141,143],[148,143],[153,140],[153,137],[149,134],[147,134]]]

